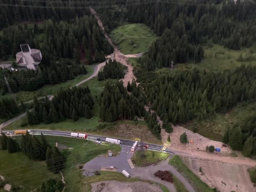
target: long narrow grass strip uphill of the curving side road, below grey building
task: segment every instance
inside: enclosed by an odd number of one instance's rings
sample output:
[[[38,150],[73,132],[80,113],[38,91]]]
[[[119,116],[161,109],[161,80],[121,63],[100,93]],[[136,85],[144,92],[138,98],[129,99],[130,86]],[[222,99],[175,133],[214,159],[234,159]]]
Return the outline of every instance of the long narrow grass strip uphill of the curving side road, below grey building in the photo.
[[[42,88],[38,89],[37,91],[20,91],[15,94],[15,97],[17,98],[17,100],[22,100],[24,102],[24,101],[32,100],[34,96],[41,97],[41,96],[56,94],[60,88],[64,89],[64,88],[74,86],[80,81],[91,76],[91,74],[93,74],[94,72],[94,68],[90,66],[86,67],[86,70],[88,71],[87,74],[76,76],[75,79],[72,79],[70,81],[66,81],[64,83],[55,84],[55,85],[45,85]],[[6,94],[5,96],[0,96],[0,98],[5,98],[5,97],[10,97],[10,95]]]

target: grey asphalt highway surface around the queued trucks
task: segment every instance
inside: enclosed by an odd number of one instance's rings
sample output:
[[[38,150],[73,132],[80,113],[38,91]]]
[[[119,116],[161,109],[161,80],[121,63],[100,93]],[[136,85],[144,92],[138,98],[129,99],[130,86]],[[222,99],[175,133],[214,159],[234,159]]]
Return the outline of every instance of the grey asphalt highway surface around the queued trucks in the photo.
[[[11,135],[15,135],[14,134],[14,130],[11,131],[3,131],[3,133],[11,133]],[[31,130],[31,133],[33,135],[40,135],[41,133],[43,133],[44,135],[56,135],[56,136],[62,136],[62,137],[71,137],[69,131],[59,131],[59,130]],[[99,136],[99,135],[90,135],[88,134],[88,140],[93,140],[96,141],[97,138],[99,138],[101,141],[105,141],[106,137],[104,136]],[[124,146],[133,146],[133,143],[135,142],[134,140],[126,140],[126,139],[120,139],[120,138],[115,138],[121,141],[120,145],[124,145]],[[163,148],[162,145],[156,145],[156,144],[152,144],[152,143],[144,143],[144,145],[148,145],[148,150],[155,150],[155,151],[161,151],[161,148]],[[170,150],[166,150],[166,153],[170,153],[170,154],[175,154],[173,151]]]

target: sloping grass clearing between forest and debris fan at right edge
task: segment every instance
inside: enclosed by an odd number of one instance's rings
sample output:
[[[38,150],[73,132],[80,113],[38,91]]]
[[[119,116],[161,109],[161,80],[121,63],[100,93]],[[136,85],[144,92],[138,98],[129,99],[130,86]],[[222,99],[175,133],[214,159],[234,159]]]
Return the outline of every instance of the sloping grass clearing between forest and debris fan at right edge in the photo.
[[[227,128],[231,128],[236,123],[244,121],[245,118],[255,113],[255,110],[256,102],[239,104],[228,113],[217,113],[215,116],[187,124],[184,127],[190,130],[197,128],[197,133],[200,135],[212,140],[222,141]]]

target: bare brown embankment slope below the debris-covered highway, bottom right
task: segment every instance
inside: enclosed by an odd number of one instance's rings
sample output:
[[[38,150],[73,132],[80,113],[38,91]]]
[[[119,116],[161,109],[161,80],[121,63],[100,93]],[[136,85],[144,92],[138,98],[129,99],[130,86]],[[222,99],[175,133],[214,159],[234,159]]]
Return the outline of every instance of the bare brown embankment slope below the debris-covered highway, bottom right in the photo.
[[[248,167],[218,160],[180,156],[185,164],[210,187],[221,192],[252,192],[256,187],[250,180]],[[202,172],[199,172],[201,167]]]

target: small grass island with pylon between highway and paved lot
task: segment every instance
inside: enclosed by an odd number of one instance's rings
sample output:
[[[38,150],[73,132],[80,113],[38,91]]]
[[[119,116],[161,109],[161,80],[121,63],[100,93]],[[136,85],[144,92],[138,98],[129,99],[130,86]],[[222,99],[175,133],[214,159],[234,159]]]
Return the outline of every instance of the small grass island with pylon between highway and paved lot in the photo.
[[[168,153],[161,153],[157,151],[144,150],[144,158],[140,156],[140,150],[137,150],[131,159],[133,164],[137,167],[144,167],[151,165],[162,160],[166,160],[169,156]]]

